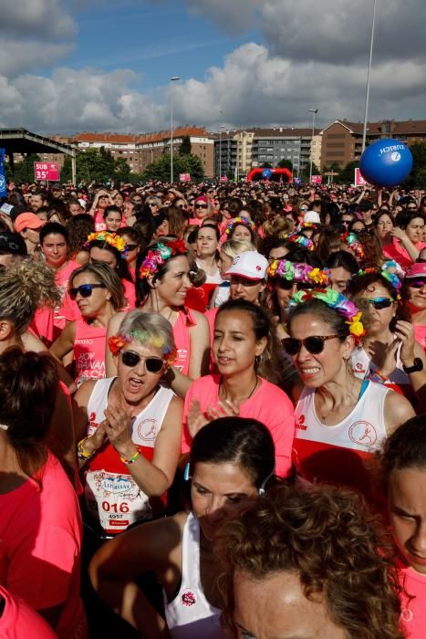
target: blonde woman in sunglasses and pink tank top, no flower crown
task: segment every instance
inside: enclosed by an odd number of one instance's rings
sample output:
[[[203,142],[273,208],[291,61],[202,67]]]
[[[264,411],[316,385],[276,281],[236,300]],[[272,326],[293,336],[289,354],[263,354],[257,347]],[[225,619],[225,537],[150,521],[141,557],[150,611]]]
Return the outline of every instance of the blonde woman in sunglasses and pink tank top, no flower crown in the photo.
[[[68,280],[69,297],[75,299],[81,317],[70,321],[50,347],[62,361],[74,353],[74,377],[78,384],[105,377],[105,341],[109,319],[125,304],[119,276],[107,264],[97,262],[77,268]]]

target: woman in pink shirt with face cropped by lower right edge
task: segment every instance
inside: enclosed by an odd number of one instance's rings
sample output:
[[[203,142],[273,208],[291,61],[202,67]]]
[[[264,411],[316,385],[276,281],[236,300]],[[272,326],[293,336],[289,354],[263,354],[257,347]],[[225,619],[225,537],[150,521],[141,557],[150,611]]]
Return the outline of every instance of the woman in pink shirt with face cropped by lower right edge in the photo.
[[[386,440],[381,469],[398,549],[400,622],[410,639],[426,636],[426,423],[413,417]]]

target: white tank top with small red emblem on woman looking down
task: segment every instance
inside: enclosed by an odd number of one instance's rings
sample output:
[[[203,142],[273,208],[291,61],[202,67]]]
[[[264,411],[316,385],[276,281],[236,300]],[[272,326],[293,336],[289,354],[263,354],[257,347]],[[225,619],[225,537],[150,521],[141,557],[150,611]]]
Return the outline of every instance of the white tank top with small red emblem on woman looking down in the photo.
[[[225,639],[221,611],[205,598],[200,579],[200,524],[190,513],[183,527],[182,581],[176,597],[164,609],[172,639]]]

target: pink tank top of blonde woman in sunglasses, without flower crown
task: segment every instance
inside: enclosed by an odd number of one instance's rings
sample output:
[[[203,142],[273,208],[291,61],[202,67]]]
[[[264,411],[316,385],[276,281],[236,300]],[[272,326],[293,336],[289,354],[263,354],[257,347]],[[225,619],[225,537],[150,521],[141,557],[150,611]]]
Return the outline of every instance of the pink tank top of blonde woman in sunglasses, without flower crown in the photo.
[[[86,380],[99,380],[105,377],[106,337],[106,326],[93,326],[85,319],[76,320],[74,361],[78,385]]]

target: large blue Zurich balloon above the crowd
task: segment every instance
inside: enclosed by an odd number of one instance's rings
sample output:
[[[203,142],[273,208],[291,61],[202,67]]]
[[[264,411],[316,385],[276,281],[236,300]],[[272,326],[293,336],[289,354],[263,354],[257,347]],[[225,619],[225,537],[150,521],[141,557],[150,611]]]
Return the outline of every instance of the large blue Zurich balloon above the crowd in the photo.
[[[362,153],[359,169],[370,184],[396,186],[409,176],[412,155],[408,146],[399,140],[377,140]]]

